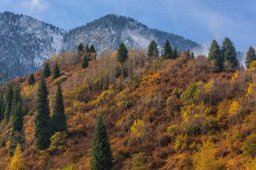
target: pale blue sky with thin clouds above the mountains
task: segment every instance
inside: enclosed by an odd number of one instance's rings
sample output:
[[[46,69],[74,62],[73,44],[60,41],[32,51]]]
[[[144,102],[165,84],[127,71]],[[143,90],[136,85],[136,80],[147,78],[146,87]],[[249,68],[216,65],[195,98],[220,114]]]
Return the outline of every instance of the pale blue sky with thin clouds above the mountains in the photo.
[[[24,13],[65,30],[108,13],[210,46],[229,37],[236,50],[256,46],[255,0],[0,0],[0,11]]]

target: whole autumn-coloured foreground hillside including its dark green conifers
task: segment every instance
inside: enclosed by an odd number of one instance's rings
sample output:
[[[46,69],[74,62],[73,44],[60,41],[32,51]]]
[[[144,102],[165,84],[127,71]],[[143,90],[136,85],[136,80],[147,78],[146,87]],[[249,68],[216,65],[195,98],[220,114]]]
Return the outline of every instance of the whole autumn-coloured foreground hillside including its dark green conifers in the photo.
[[[93,44],[0,93],[0,169],[256,169],[256,55]]]

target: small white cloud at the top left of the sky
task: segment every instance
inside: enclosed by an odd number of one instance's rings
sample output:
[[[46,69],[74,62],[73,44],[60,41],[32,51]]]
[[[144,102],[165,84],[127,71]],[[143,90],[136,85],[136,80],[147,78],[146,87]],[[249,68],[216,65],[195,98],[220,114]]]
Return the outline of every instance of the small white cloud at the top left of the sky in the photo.
[[[22,7],[30,11],[44,11],[48,3],[44,0],[26,0],[22,3]]]

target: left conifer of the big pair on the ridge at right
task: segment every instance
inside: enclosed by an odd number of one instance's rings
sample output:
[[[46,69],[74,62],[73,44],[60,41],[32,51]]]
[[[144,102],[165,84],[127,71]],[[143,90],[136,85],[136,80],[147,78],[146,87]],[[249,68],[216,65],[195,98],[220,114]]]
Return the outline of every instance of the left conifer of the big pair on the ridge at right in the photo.
[[[224,64],[224,57],[222,56],[220,46],[218,45],[218,42],[216,42],[216,40],[212,41],[208,59],[215,60],[215,65],[219,68],[219,71],[222,71],[223,64]]]

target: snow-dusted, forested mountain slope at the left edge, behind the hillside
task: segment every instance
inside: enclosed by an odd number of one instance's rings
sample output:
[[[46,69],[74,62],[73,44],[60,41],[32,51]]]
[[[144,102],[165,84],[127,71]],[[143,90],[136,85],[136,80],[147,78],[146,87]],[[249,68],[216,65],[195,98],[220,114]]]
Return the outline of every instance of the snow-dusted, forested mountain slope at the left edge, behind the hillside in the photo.
[[[0,67],[9,77],[28,75],[63,44],[64,30],[28,15],[0,13]]]

